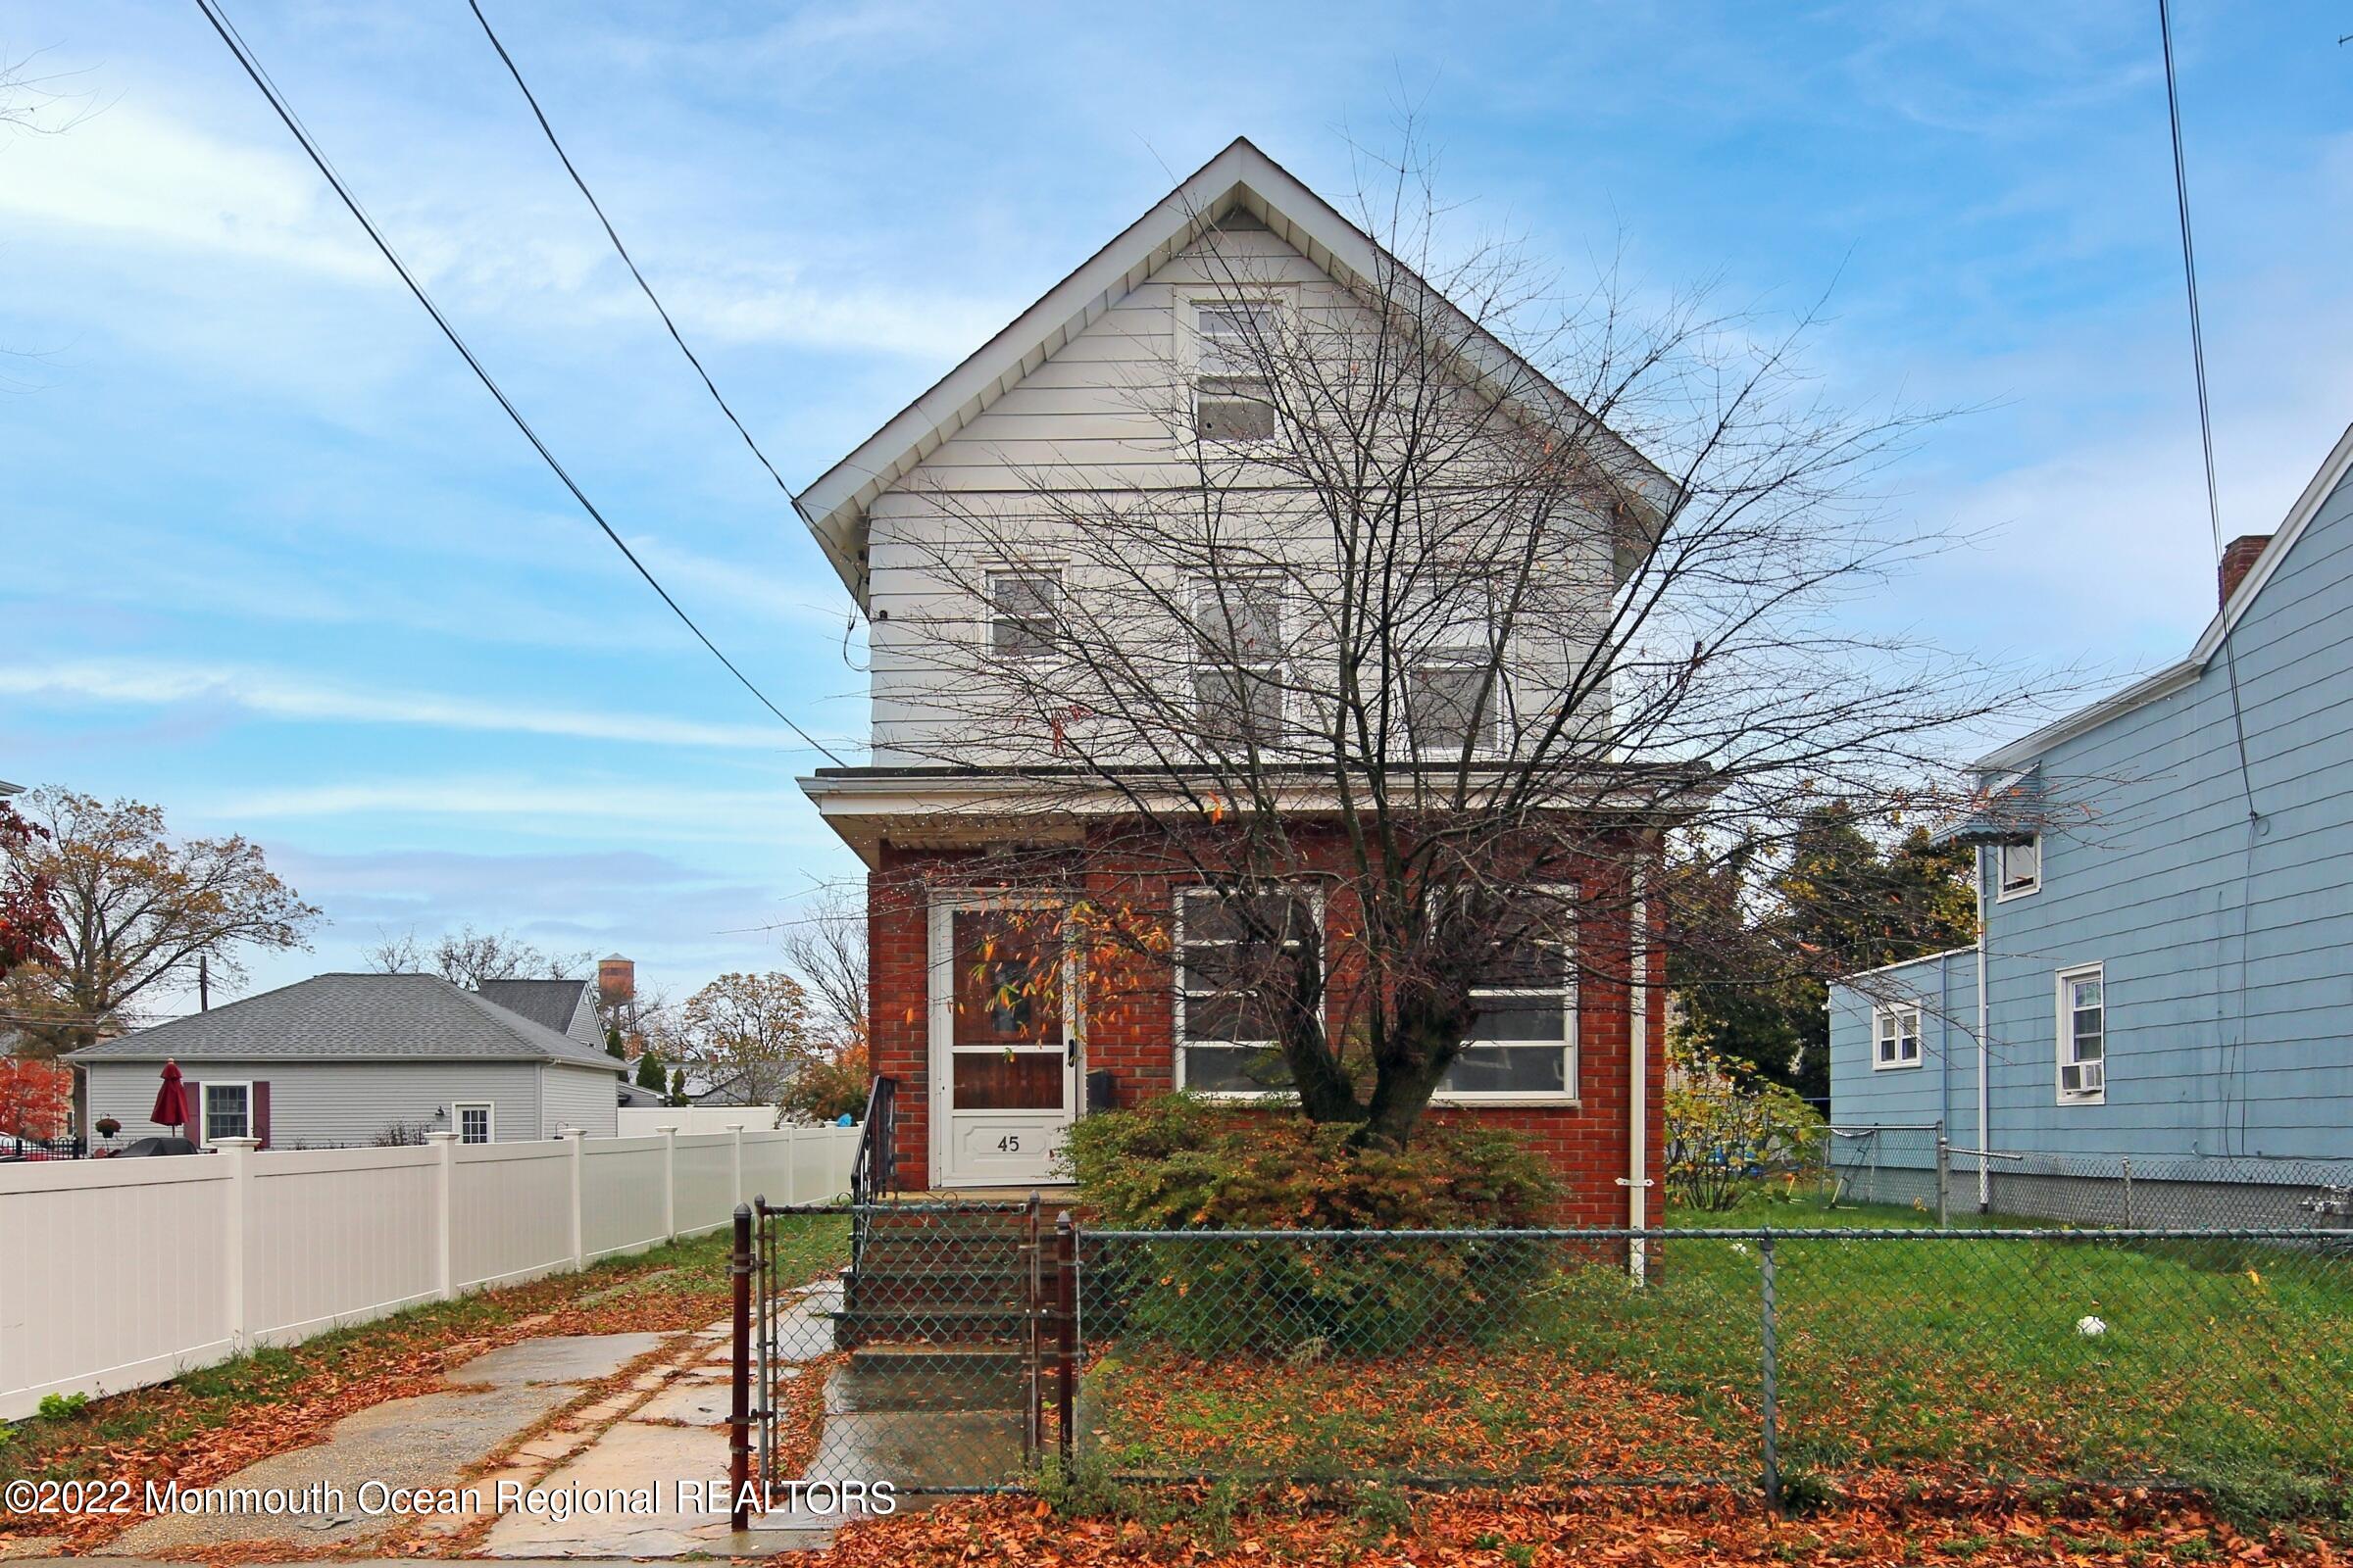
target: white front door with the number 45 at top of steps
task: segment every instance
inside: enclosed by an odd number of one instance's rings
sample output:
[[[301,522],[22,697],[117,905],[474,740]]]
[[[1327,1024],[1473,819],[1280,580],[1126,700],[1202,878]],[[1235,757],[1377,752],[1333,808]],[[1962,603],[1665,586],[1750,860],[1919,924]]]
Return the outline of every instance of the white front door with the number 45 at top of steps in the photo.
[[[941,1187],[1061,1180],[1078,1107],[1078,999],[1059,910],[932,907],[932,1171]]]

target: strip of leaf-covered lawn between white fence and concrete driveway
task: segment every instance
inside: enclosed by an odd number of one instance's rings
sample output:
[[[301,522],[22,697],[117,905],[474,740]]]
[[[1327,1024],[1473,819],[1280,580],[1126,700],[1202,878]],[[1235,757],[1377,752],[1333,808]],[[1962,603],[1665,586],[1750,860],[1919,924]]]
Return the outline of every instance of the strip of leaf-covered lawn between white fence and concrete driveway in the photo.
[[[809,1279],[849,1255],[847,1218],[776,1222],[779,1279]],[[259,1458],[318,1441],[358,1408],[424,1394],[442,1371],[534,1335],[685,1333],[729,1309],[725,1229],[551,1274],[409,1307],[301,1345],[261,1349],[172,1382],[129,1389],[56,1415],[0,1425],[0,1483],[28,1479],[165,1479],[200,1486]],[[54,1533],[59,1519],[0,1514],[0,1540]],[[99,1521],[68,1528],[78,1547]]]

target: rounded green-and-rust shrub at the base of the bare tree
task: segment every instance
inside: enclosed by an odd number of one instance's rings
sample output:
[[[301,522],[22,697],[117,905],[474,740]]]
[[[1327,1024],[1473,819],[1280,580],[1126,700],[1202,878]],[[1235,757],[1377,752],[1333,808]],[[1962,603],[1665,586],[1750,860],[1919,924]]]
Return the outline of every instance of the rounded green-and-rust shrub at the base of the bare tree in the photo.
[[[1558,1197],[1546,1166],[1494,1128],[1424,1124],[1407,1150],[1355,1150],[1348,1133],[1191,1095],[1080,1119],[1068,1161],[1096,1225],[1301,1232],[1299,1241],[1101,1246],[1089,1267],[1111,1295],[1104,1328],[1188,1352],[1294,1356],[1508,1328],[1548,1267],[1539,1244],[1351,1232],[1544,1225]]]

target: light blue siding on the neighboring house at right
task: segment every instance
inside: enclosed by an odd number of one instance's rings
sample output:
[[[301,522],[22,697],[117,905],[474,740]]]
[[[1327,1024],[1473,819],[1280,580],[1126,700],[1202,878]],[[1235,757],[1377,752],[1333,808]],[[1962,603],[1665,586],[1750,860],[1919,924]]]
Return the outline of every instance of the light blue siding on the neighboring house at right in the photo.
[[[2040,757],[2045,795],[2080,820],[2045,832],[2040,891],[1986,905],[1991,1147],[2353,1157],[2353,480],[2287,545],[2231,642],[2259,830],[2221,651],[2191,684]],[[2054,976],[2080,964],[2106,980],[2099,1105],[2057,1091]],[[1859,985],[1913,971],[1958,997],[1946,1124],[1967,1143],[1974,954]],[[1833,1117],[1934,1119],[1892,1077],[1871,1072],[1868,1001],[1833,987]]]

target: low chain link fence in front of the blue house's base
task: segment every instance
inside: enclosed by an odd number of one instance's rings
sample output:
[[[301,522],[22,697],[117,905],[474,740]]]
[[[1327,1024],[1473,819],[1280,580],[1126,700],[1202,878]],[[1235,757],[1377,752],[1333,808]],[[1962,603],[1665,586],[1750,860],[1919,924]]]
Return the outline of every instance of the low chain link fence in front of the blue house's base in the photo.
[[[1831,1204],[1941,1222],[1986,1213],[2125,1229],[2353,1229],[2353,1159],[1969,1150],[1932,1121],[1824,1128],[1814,1182]]]

